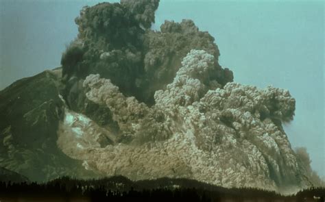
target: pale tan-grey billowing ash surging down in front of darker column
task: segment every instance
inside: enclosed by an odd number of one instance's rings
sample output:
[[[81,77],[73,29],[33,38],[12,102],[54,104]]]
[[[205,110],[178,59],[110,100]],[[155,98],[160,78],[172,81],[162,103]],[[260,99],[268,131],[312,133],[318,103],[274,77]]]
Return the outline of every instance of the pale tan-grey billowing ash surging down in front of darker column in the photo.
[[[281,123],[293,118],[287,90],[207,81],[213,55],[192,50],[148,107],[109,79],[89,75],[87,99],[112,111],[129,144],[86,148],[77,156],[105,175],[188,177],[220,186],[271,190],[309,186]]]

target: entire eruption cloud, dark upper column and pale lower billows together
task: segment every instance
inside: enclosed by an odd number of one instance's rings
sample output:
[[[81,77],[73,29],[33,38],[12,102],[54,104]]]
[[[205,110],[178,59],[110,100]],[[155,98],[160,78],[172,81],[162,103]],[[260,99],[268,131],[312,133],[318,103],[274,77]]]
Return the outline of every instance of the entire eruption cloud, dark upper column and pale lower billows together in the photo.
[[[80,33],[62,55],[60,149],[108,176],[272,190],[319,183],[282,129],[295,110],[289,91],[232,82],[215,39],[193,21],[150,30],[157,8],[100,3],[76,18]]]

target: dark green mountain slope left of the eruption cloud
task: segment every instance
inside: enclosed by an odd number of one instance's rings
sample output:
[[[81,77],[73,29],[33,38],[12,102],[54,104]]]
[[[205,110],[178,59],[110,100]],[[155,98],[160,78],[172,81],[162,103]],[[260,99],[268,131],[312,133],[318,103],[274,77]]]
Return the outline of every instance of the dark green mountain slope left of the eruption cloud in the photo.
[[[64,116],[60,75],[60,69],[45,71],[0,92],[0,166],[32,181],[87,173],[56,146]]]

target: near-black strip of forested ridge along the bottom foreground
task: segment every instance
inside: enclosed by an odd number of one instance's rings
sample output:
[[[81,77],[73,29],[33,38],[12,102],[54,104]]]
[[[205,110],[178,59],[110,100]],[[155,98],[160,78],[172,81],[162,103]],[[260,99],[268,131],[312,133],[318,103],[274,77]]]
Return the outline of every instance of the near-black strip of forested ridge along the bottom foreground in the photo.
[[[191,179],[131,181],[117,176],[47,182],[0,182],[0,201],[324,201],[325,188],[283,196],[255,188],[222,188]]]

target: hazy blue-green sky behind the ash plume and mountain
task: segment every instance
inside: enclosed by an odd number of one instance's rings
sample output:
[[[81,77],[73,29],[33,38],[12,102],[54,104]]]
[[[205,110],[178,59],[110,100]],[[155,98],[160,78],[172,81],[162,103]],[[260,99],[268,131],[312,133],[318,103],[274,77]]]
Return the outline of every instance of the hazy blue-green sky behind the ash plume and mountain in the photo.
[[[74,18],[83,5],[99,2],[0,0],[0,89],[60,66],[62,51],[77,36]],[[325,175],[324,3],[160,0],[153,28],[182,18],[215,37],[219,62],[234,81],[291,92],[296,116],[285,131]]]

